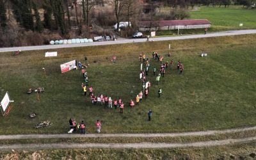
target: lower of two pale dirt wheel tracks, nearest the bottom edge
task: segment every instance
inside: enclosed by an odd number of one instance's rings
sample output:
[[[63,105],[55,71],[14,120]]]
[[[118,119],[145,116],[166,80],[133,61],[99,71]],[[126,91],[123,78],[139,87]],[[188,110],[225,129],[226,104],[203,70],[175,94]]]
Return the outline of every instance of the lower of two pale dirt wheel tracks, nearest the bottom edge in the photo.
[[[218,141],[200,141],[194,143],[47,143],[1,145],[0,150],[42,150],[57,148],[177,148],[177,147],[211,147],[220,145],[234,145],[255,141],[256,137],[243,139],[227,139]]]

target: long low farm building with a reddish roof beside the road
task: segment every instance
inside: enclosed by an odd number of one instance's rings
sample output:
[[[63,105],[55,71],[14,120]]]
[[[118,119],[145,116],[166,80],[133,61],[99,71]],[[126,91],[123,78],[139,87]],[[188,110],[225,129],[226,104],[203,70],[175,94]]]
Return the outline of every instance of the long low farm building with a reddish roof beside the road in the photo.
[[[160,21],[140,21],[138,22],[139,31],[166,31],[173,29],[197,29],[211,28],[211,22],[207,19],[189,20],[160,20]]]

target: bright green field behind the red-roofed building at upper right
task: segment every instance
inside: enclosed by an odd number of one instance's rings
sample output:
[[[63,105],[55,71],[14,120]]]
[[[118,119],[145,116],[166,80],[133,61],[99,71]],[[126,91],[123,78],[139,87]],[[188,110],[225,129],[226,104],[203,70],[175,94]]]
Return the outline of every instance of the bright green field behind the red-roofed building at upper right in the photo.
[[[202,6],[190,14],[189,19],[208,19],[212,23],[211,31],[256,28],[256,10],[232,6],[230,8]],[[243,27],[239,24],[243,24]]]

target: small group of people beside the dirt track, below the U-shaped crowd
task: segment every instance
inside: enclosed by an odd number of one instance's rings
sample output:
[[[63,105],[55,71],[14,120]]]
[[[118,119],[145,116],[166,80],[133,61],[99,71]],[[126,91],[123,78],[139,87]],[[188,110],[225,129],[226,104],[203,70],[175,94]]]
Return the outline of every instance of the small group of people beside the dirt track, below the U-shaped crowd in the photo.
[[[100,121],[97,120],[97,122],[95,122],[95,124],[96,124],[97,132],[100,133],[100,128],[101,128]],[[76,122],[76,119],[70,118],[69,126],[70,126],[70,129],[73,129],[73,132],[81,132],[81,134],[86,133],[86,125],[84,124],[83,120],[82,120],[81,124],[78,124]]]

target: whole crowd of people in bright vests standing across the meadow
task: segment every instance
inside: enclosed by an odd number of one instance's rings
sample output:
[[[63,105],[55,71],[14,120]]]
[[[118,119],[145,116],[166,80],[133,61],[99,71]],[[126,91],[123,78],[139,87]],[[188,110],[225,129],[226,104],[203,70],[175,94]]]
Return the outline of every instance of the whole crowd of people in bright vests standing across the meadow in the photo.
[[[140,70],[141,91],[138,93],[138,95],[136,95],[136,103],[132,99],[129,101],[129,106],[131,108],[134,108],[136,105],[139,105],[142,102],[143,95],[145,97],[145,100],[148,99],[148,94],[151,87],[150,81],[147,81],[147,76],[150,68],[150,58],[146,56],[146,54],[140,54],[139,60],[140,62],[144,63],[145,68],[143,69],[141,66],[141,70]],[[159,70],[157,70],[156,67],[153,68],[153,74],[154,76],[156,76],[156,84],[159,84],[161,77],[164,77],[164,74],[166,74],[166,70],[168,66],[170,65],[170,68],[171,68],[174,61],[172,59],[170,63],[168,61],[164,63],[163,62],[164,57],[158,54],[157,52],[152,52],[152,60],[157,60],[160,62]],[[111,61],[113,61],[113,63],[116,62],[115,55],[112,57]],[[90,97],[90,101],[92,102],[93,105],[96,105],[97,103],[99,103],[102,106],[104,105],[105,108],[115,108],[115,109],[119,108],[120,113],[124,113],[124,102],[121,98],[111,99],[111,97],[108,97],[108,95],[103,95],[103,94],[100,94],[99,96],[95,95],[95,93],[93,92],[92,86],[89,86],[88,84],[88,74],[86,72],[86,68],[80,62],[78,65],[79,65],[79,70],[82,70],[83,79],[84,79],[84,83],[81,84],[83,95],[86,96],[86,93],[88,91],[89,92],[88,96]],[[182,65],[180,60],[177,62],[177,70],[179,71],[180,74],[182,74],[182,72],[184,71],[184,65]],[[157,71],[159,72],[157,73]],[[158,94],[158,97],[161,97],[161,94],[162,94],[161,88],[159,88],[159,90],[157,91],[157,94]],[[151,116],[152,116],[152,110],[150,109],[150,111],[148,111],[149,121],[151,120]],[[101,126],[99,120],[97,120],[96,125],[97,125],[97,132],[99,133],[100,126]],[[76,124],[76,121],[70,118],[70,128],[71,127],[74,129],[75,132],[76,132],[76,128],[79,129],[81,133],[86,132],[83,121],[81,124]]]

